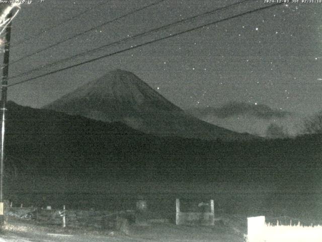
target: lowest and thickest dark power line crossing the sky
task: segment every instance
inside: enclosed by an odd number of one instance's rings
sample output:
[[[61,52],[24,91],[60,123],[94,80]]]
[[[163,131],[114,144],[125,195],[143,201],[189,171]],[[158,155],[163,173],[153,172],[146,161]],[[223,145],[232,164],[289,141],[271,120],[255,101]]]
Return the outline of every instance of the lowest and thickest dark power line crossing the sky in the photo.
[[[234,16],[231,16],[231,17],[227,17],[227,18],[224,18],[224,19],[221,19],[221,20],[217,20],[217,21],[214,21],[214,22],[211,22],[211,23],[208,23],[208,24],[204,24],[204,25],[201,25],[201,26],[198,26],[198,27],[194,27],[194,28],[191,28],[191,29],[188,29],[188,30],[184,30],[184,31],[181,31],[181,32],[178,32],[178,33],[175,33],[175,34],[171,34],[169,36],[165,36],[165,37],[162,37],[162,38],[150,40],[150,41],[147,41],[147,42],[142,43],[142,44],[138,44],[138,45],[135,45],[135,46],[131,46],[129,48],[125,48],[125,49],[118,50],[118,51],[115,51],[115,52],[112,52],[112,53],[109,53],[109,54],[102,55],[100,57],[96,57],[96,58],[90,59],[89,61],[85,61],[85,62],[82,62],[82,63],[74,64],[74,65],[71,65],[69,67],[61,68],[61,69],[58,69],[58,70],[55,70],[55,71],[52,71],[52,72],[49,72],[49,73],[46,73],[46,74],[42,74],[42,75],[39,75],[39,76],[36,76],[36,77],[33,77],[33,78],[29,78],[29,79],[26,79],[24,81],[20,81],[20,82],[17,82],[17,83],[8,85],[8,87],[15,86],[15,85],[18,85],[18,84],[22,84],[22,83],[25,83],[25,82],[29,82],[29,81],[35,80],[37,78],[49,76],[51,74],[54,74],[54,73],[57,73],[57,72],[61,72],[61,71],[64,71],[64,70],[68,70],[70,68],[82,66],[84,64],[88,64],[88,63],[91,63],[91,62],[95,62],[95,61],[97,61],[99,59],[102,59],[102,58],[106,58],[106,57],[109,57],[109,56],[112,56],[112,55],[115,55],[115,54],[119,54],[119,53],[122,53],[122,52],[125,52],[125,51],[128,51],[128,50],[135,49],[135,48],[138,48],[138,47],[147,45],[147,44],[155,43],[155,42],[158,42],[158,41],[161,41],[161,40],[173,38],[173,37],[176,37],[178,35],[185,34],[185,33],[188,33],[188,32],[192,32],[194,30],[198,30],[198,29],[201,29],[203,27],[210,26],[210,25],[213,25],[213,24],[216,24],[216,23],[220,23],[220,22],[223,22],[223,21],[226,21],[226,20],[230,20],[230,19],[234,19],[234,18],[237,18],[237,17],[241,17],[241,16],[244,16],[244,15],[247,15],[247,14],[255,13],[257,11],[261,11],[261,10],[264,10],[264,9],[269,9],[269,8],[275,7],[277,5],[281,5],[281,3],[275,3],[275,4],[272,4],[272,5],[269,5],[269,6],[265,6],[265,7],[259,8],[259,9],[250,10],[250,11],[247,11],[247,12],[244,12],[244,13],[241,13],[241,14],[237,14],[237,15],[234,15]]]

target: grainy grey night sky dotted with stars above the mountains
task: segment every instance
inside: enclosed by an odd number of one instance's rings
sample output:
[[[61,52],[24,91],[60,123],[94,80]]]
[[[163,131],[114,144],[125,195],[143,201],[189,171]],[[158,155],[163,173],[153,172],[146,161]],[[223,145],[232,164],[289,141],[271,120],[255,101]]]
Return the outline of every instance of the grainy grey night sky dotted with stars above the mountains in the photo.
[[[22,4],[13,22],[10,60],[15,62],[155,2],[44,0],[38,3],[34,0],[32,4]],[[240,1],[163,1],[23,58],[10,65],[10,76],[123,38],[128,37],[128,41],[10,79],[9,84],[271,5],[264,0],[248,1],[170,29],[130,39],[138,33],[237,2]],[[83,15],[66,21],[88,9]],[[218,107],[237,101],[311,114],[322,110],[321,10],[322,4],[318,3],[278,5],[12,86],[9,99],[18,104],[41,107],[108,71],[123,69],[133,72],[183,109]]]

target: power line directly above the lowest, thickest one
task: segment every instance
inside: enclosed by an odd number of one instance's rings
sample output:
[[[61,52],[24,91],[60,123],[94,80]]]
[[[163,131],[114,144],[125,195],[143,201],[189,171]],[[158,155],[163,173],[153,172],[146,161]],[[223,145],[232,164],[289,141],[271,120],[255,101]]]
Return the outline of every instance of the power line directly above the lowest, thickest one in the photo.
[[[32,72],[41,70],[43,68],[48,68],[48,67],[51,67],[51,66],[56,65],[56,64],[61,64],[63,62],[69,61],[70,59],[74,59],[74,58],[79,57],[79,56],[83,56],[83,55],[86,55],[86,54],[90,54],[90,53],[96,52],[96,51],[98,51],[100,49],[103,49],[103,48],[106,48],[108,46],[111,46],[111,45],[114,45],[114,44],[119,44],[121,42],[124,42],[124,41],[127,41],[127,40],[131,40],[131,39],[134,39],[134,38],[137,38],[137,37],[146,36],[147,34],[150,34],[152,32],[156,32],[156,31],[159,31],[159,30],[163,30],[163,29],[172,27],[174,25],[177,25],[177,24],[180,24],[180,23],[183,23],[183,22],[191,21],[191,20],[194,20],[194,19],[196,19],[198,17],[211,15],[211,14],[214,14],[215,12],[217,12],[217,11],[224,10],[224,9],[233,7],[235,5],[239,5],[239,4],[246,3],[246,2],[250,2],[250,1],[252,1],[252,0],[240,1],[240,2],[235,3],[235,4],[227,5],[227,6],[224,6],[224,7],[221,7],[221,8],[214,9],[212,11],[207,11],[207,12],[202,13],[202,14],[198,14],[198,15],[195,15],[195,16],[192,16],[192,17],[189,17],[189,18],[186,18],[186,19],[182,19],[182,20],[176,21],[174,23],[170,23],[170,24],[167,24],[167,25],[164,25],[164,26],[161,26],[161,27],[157,27],[157,28],[151,29],[149,31],[146,31],[146,32],[142,32],[142,33],[133,35],[131,37],[123,38],[121,40],[114,41],[114,42],[111,42],[111,43],[102,45],[102,46],[97,47],[97,48],[94,48],[92,50],[84,51],[82,53],[79,53],[79,54],[76,54],[76,55],[73,55],[73,56],[70,56],[70,57],[66,57],[66,58],[60,59],[60,60],[58,60],[56,62],[53,62],[53,63],[47,64],[47,65],[44,65],[42,67],[38,67],[38,68],[32,69],[30,71],[27,71],[27,72],[24,72],[24,73],[21,73],[21,74],[17,74],[16,76],[11,77],[10,79],[17,78],[17,77],[20,77],[20,76],[23,76],[23,75],[27,75],[27,74],[30,74]]]

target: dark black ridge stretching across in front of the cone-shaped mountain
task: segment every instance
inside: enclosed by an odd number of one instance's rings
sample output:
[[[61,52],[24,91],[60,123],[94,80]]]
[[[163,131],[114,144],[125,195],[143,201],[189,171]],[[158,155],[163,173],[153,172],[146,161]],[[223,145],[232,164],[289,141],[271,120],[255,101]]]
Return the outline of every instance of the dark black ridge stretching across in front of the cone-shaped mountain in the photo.
[[[13,102],[7,116],[6,167],[32,179],[309,183],[322,176],[321,135],[247,142],[157,137]]]

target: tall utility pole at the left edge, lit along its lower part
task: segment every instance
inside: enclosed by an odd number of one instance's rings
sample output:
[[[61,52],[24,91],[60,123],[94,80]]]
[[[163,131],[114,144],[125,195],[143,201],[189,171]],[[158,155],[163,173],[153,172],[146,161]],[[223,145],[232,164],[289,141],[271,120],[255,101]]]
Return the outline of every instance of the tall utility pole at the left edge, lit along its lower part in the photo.
[[[7,16],[7,19],[12,18],[12,12]],[[10,48],[10,34],[11,34],[11,21],[6,26],[5,32],[5,54],[3,65],[3,77],[1,85],[1,111],[2,111],[2,128],[1,128],[1,161],[0,161],[0,226],[4,226],[4,160],[5,160],[5,123],[6,123],[6,104],[7,104],[7,89],[8,89],[8,71],[9,71],[9,48]]]

